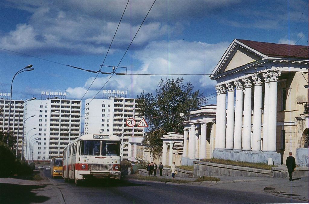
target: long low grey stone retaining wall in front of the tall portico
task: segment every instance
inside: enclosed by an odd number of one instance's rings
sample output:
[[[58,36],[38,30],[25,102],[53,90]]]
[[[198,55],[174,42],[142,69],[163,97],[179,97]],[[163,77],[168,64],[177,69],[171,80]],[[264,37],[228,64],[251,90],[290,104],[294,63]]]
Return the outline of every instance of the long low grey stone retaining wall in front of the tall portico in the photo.
[[[195,161],[194,177],[198,178],[200,176],[273,177],[271,170]]]

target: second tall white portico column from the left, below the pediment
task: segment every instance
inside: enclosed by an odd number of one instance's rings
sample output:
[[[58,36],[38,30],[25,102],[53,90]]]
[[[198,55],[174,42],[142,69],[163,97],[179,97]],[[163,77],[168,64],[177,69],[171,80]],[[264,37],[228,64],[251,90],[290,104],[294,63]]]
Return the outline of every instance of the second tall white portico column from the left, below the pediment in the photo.
[[[226,149],[234,147],[234,84],[227,83]]]

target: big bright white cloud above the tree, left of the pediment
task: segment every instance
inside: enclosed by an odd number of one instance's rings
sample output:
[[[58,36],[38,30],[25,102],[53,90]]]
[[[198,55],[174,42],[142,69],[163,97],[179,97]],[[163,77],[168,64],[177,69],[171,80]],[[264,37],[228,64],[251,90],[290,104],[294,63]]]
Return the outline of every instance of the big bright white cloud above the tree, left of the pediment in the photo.
[[[184,40],[151,42],[143,50],[136,51],[133,57],[142,62],[142,66],[136,70],[128,70],[128,73],[139,74],[210,74],[217,65],[229,43],[207,44],[202,42],[187,42]],[[121,71],[119,71],[121,72]],[[91,86],[91,93],[85,98],[92,98],[110,75],[98,77]],[[104,89],[127,90],[129,97],[145,91],[154,92],[161,79],[183,77],[184,82],[191,82],[196,89],[206,93],[214,89],[214,80],[209,76],[148,76],[148,75],[114,75],[104,86]],[[72,96],[81,98],[94,77],[87,79],[84,87],[68,88]],[[82,92],[82,94],[81,94]],[[102,94],[102,93],[100,93]],[[99,94],[98,97],[101,97]]]

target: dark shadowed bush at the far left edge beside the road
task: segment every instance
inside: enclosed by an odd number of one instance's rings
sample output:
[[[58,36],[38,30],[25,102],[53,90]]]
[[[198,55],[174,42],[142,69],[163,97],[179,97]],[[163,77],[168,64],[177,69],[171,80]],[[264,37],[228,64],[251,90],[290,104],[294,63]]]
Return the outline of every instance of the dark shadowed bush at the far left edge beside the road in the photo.
[[[16,157],[11,149],[0,142],[0,177],[9,177],[14,175]]]

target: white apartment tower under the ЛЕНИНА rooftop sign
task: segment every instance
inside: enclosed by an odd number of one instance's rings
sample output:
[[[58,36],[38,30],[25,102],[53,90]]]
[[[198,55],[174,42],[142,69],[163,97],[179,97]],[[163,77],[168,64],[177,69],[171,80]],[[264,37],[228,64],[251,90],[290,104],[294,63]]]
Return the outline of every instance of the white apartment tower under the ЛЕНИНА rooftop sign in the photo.
[[[79,100],[55,97],[28,101],[24,104],[24,112],[24,118],[35,115],[24,125],[26,160],[49,160],[61,156],[66,145],[80,135]]]

